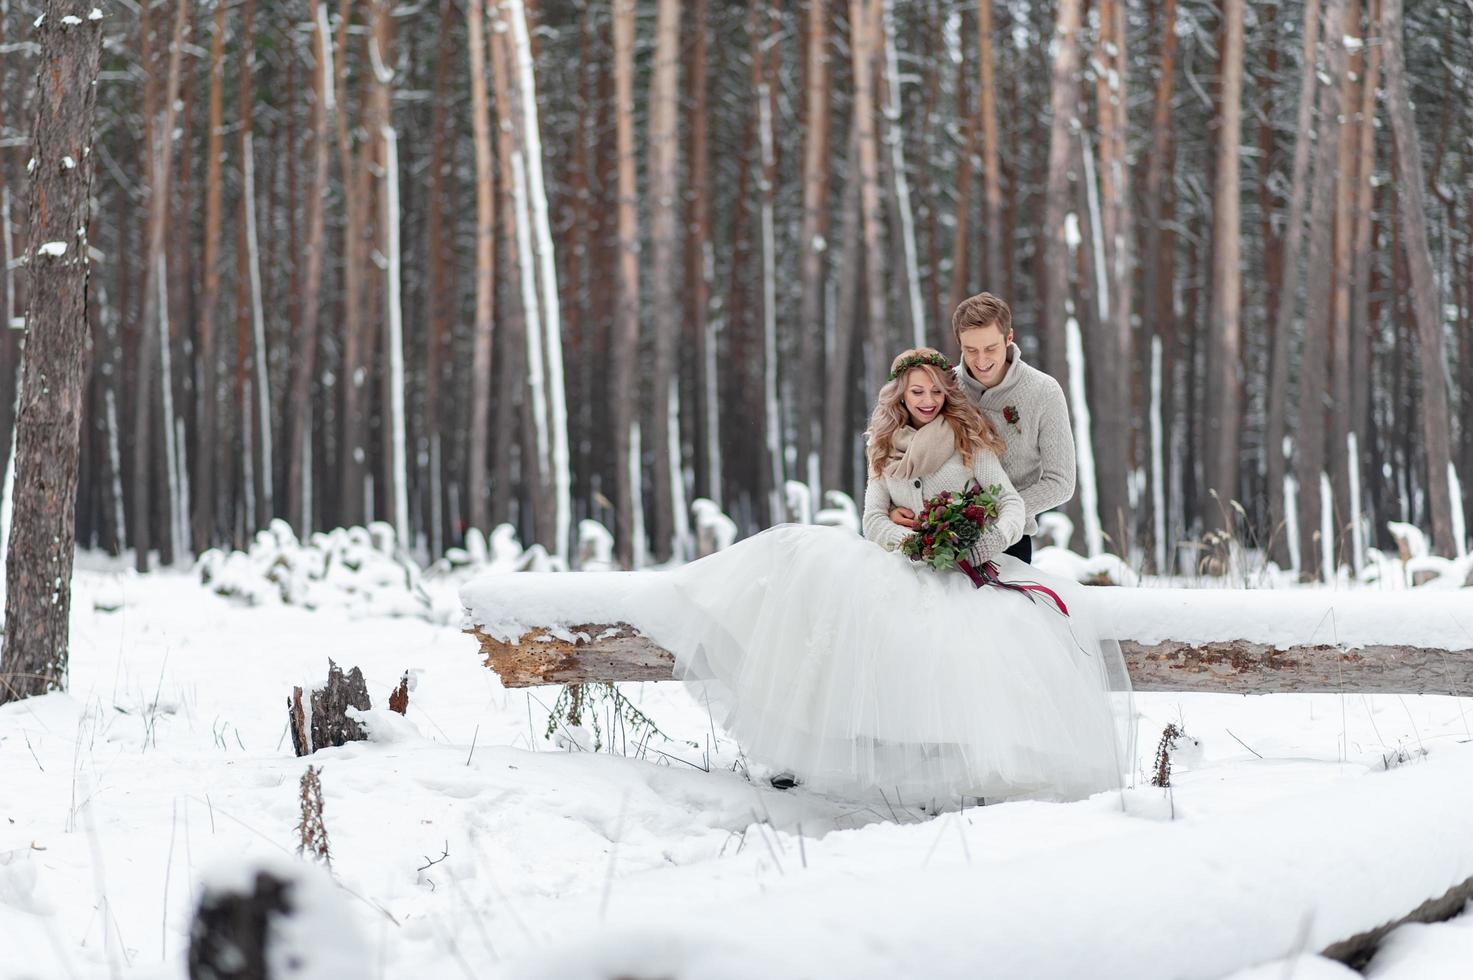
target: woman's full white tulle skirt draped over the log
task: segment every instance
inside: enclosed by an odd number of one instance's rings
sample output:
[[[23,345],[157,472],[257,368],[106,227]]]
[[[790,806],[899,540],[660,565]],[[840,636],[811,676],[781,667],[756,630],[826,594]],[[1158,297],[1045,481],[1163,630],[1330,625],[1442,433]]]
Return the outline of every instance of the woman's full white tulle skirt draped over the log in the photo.
[[[1134,713],[1119,644],[1075,582],[1016,559],[975,588],[850,531],[785,525],[670,572],[654,637],[744,752],[825,793],[907,803],[1119,787]]]

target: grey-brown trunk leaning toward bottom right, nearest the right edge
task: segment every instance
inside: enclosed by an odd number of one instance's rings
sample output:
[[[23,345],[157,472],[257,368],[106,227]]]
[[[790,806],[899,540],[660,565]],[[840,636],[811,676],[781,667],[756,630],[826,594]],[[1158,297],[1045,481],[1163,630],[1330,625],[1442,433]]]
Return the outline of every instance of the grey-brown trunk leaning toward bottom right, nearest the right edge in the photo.
[[[1417,321],[1417,351],[1421,361],[1421,429],[1427,448],[1432,548],[1436,554],[1452,557],[1457,553],[1457,542],[1452,535],[1449,489],[1452,436],[1444,367],[1446,355],[1442,343],[1442,307],[1432,273],[1432,249],[1427,245],[1426,172],[1421,168],[1421,149],[1417,146],[1417,125],[1402,60],[1401,0],[1382,0],[1380,29],[1386,66],[1386,115],[1391,116],[1396,172],[1401,177],[1396,190],[1404,200],[1402,246],[1411,273],[1411,311]]]

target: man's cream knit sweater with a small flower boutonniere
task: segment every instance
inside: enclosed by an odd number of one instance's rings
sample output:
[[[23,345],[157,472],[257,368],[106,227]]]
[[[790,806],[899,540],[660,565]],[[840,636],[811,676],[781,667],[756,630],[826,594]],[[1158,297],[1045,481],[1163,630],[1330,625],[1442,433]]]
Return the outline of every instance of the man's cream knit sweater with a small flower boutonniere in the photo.
[[[1024,533],[1038,533],[1036,517],[1074,497],[1074,430],[1064,389],[1049,374],[1022,363],[1016,343],[1008,345],[1008,374],[993,388],[957,364],[956,380],[993,427],[1008,441],[1003,469],[1022,495]],[[1008,421],[1008,410],[1018,421]]]

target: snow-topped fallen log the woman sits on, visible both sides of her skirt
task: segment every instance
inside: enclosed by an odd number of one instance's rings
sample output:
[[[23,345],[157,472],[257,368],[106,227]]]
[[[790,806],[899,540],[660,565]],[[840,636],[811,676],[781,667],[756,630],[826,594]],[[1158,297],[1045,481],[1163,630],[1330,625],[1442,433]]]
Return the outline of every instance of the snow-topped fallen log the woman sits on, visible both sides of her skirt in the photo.
[[[1457,591],[1100,588],[1091,598],[1139,691],[1473,696]],[[483,576],[461,600],[465,632],[508,688],[672,676],[675,657],[648,634],[681,600],[657,572]]]

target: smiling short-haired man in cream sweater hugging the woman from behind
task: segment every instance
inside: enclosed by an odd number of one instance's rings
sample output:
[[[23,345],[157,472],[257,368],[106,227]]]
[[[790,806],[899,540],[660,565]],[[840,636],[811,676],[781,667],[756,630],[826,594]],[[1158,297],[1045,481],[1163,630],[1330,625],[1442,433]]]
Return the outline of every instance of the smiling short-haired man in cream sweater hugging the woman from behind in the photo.
[[[1064,389],[1049,374],[1022,361],[1013,343],[1012,309],[991,293],[962,301],[952,314],[952,333],[962,348],[956,380],[1008,441],[1003,470],[1022,495],[1027,523],[1006,554],[1033,561],[1037,516],[1074,497],[1074,433]],[[890,519],[918,528],[915,513],[896,507]]]

